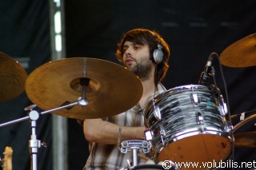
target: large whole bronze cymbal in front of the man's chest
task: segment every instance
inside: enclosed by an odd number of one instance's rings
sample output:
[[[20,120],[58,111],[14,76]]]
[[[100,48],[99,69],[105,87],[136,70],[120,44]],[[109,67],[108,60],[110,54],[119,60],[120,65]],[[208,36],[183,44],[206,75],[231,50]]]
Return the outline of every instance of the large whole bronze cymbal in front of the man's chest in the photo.
[[[85,92],[87,105],[52,112],[76,119],[114,116],[142,97],[142,83],[134,73],[113,62],[89,57],[50,61],[29,75],[25,89],[30,100],[44,110],[78,101]]]

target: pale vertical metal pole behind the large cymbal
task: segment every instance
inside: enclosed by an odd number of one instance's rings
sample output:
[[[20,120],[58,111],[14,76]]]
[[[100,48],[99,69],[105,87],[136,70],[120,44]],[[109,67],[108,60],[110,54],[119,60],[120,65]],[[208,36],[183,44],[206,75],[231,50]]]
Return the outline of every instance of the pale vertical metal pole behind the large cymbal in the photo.
[[[50,0],[51,59],[66,57],[64,1]],[[53,170],[68,169],[67,119],[52,115]]]

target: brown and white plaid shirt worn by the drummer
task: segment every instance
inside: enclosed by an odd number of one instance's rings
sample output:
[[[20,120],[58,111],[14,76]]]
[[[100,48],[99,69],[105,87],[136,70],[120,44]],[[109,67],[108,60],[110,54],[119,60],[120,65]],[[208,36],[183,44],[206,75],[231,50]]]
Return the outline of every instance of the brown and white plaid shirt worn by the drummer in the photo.
[[[155,95],[166,91],[162,84],[158,84],[158,91]],[[148,98],[147,101],[152,100],[154,94]],[[144,125],[144,114],[143,110],[138,106],[134,105],[133,108],[127,110],[124,113],[120,113],[114,117],[106,118],[106,121],[117,125],[124,125],[130,127],[143,127]],[[125,168],[128,165],[127,160],[132,162],[133,152],[122,153],[118,149],[117,144],[99,144],[90,142],[90,156],[87,159],[86,166],[83,170],[100,170],[100,169],[120,169]],[[140,152],[141,153],[141,152]],[[141,153],[142,154],[142,153]],[[146,160],[138,159],[138,164],[145,164]]]

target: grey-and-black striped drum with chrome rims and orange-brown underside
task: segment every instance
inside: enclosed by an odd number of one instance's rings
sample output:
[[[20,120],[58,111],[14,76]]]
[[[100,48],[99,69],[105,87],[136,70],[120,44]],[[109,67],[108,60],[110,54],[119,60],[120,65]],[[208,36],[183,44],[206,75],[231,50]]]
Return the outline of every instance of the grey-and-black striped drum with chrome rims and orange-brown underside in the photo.
[[[215,162],[218,166],[232,150],[224,115],[222,101],[204,85],[178,86],[154,97],[145,109],[145,124],[153,133],[154,160]]]

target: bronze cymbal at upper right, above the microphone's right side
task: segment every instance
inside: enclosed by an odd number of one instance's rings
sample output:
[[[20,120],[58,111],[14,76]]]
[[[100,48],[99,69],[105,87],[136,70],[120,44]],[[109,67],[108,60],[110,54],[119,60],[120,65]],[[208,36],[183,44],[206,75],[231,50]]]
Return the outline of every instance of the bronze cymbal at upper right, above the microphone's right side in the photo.
[[[256,65],[256,34],[250,34],[228,46],[220,55],[222,65],[249,67]]]

